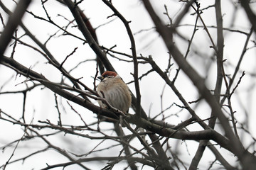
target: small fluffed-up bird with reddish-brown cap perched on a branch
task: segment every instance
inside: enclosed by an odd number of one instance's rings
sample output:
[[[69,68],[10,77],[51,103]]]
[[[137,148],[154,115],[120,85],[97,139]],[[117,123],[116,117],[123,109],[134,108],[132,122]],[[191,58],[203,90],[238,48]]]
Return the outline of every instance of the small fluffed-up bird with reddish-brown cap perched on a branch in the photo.
[[[97,78],[101,80],[97,86],[97,93],[105,98],[111,106],[127,113],[131,106],[132,96],[121,77],[116,72],[106,71]],[[100,107],[107,108],[102,101],[98,101],[98,103]]]

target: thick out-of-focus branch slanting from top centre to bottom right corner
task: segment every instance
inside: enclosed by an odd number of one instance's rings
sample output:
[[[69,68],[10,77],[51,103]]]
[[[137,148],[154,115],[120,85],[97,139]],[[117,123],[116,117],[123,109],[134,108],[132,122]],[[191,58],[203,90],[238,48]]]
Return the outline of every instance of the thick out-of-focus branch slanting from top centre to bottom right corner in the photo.
[[[188,78],[191,79],[193,84],[198,89],[199,93],[203,96],[203,98],[206,99],[209,106],[212,108],[213,113],[215,113],[215,115],[220,120],[220,124],[222,125],[223,130],[225,131],[225,135],[230,140],[230,147],[233,148],[233,153],[239,157],[244,167],[248,166],[249,163],[255,164],[256,166],[255,157],[253,157],[252,154],[247,152],[242,147],[242,144],[238,140],[238,138],[235,137],[233,130],[230,128],[228,118],[226,118],[223,112],[221,111],[220,104],[218,103],[218,101],[216,101],[215,97],[212,94],[210,94],[210,91],[208,91],[208,89],[206,88],[204,79],[201,78],[200,75],[196,72],[196,70],[193,69],[193,67],[191,67],[191,65],[188,64],[188,62],[183,58],[183,55],[174,45],[174,42],[169,40],[172,31],[170,31],[168,28],[166,28],[166,26],[164,26],[160,18],[156,15],[149,0],[143,0],[143,2],[144,6],[146,7],[146,10],[148,11],[149,15],[154,21],[154,24],[156,25],[156,30],[161,35],[161,38],[163,38],[166,47],[168,48],[171,55],[174,57],[174,60],[177,62],[178,66],[181,67],[183,72],[185,72]]]

